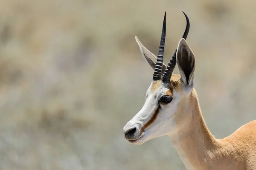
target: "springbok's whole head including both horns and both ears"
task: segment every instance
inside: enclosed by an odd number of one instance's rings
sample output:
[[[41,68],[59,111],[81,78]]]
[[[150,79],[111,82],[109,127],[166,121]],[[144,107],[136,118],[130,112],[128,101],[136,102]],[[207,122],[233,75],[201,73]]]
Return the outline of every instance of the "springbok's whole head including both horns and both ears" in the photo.
[[[186,42],[189,33],[189,19],[186,17],[186,29],[169,64],[163,63],[166,36],[166,13],[158,56],[156,57],[135,37],[140,51],[148,64],[154,69],[153,81],[145,94],[145,104],[141,110],[123,128],[125,138],[132,144],[172,135],[186,124],[191,115],[191,95],[194,91],[195,57]],[[178,65],[180,75],[172,74]]]

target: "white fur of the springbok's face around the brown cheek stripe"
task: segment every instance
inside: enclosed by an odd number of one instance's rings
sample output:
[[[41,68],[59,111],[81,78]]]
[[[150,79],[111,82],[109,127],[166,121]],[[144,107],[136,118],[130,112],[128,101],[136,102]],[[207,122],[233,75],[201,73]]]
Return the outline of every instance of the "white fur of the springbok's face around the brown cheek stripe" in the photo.
[[[173,118],[174,113],[177,110],[177,105],[180,101],[180,95],[173,90],[173,99],[167,105],[160,105],[158,104],[158,100],[163,96],[166,95],[166,92],[169,90],[169,85],[161,84],[159,88],[155,91],[151,90],[151,86],[148,88],[146,93],[146,101],[143,105],[143,108],[125,125],[124,132],[127,132],[134,127],[136,130],[133,133],[131,138],[129,137],[129,142],[132,144],[143,144],[144,142],[164,136],[169,135],[172,133],[176,128],[176,122]],[[152,119],[154,114],[156,114],[156,110],[159,108],[158,114],[154,122],[145,128],[144,132],[143,126],[145,126],[148,121]],[[136,139],[136,140],[134,140]]]

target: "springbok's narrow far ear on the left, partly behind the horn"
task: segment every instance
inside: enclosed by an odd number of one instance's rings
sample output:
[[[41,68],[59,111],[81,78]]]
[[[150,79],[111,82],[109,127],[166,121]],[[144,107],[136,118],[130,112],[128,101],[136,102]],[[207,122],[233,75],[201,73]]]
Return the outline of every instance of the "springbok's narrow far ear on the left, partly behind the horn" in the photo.
[[[157,57],[151,53],[147,48],[144,47],[144,45],[140,42],[140,40],[138,39],[137,36],[135,36],[135,40],[139,45],[140,48],[140,52],[143,56],[143,58],[146,59],[146,61],[148,62],[148,64],[151,66],[151,68],[153,68],[153,70],[155,69],[156,63],[157,63]],[[162,70],[162,74],[166,69],[166,65],[163,63],[163,70]]]

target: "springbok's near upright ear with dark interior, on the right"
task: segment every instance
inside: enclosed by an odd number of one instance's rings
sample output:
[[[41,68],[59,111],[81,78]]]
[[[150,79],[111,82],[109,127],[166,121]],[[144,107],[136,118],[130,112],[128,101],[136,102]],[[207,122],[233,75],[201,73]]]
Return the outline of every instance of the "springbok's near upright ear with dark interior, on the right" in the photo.
[[[177,48],[177,65],[180,70],[181,82],[189,87],[194,85],[195,55],[184,38]]]

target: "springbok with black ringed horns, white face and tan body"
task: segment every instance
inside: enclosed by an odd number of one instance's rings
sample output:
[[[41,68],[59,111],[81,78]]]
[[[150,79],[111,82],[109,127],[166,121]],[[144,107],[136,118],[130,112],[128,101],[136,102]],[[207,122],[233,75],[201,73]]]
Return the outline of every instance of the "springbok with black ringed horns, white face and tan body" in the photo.
[[[143,108],[123,128],[125,138],[143,144],[168,135],[187,170],[256,170],[256,120],[224,139],[216,139],[204,122],[194,89],[195,55],[186,42],[189,19],[184,15],[186,30],[167,66],[166,13],[157,57],[135,37],[154,74]],[[176,58],[180,75],[172,74]]]

